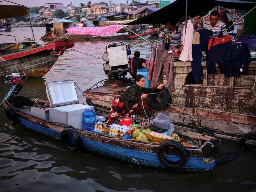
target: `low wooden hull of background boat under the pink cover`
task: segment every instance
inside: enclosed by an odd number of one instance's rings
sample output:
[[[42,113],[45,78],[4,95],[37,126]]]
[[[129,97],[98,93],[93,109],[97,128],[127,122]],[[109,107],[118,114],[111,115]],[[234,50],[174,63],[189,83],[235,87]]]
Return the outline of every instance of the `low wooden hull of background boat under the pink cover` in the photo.
[[[115,37],[93,37],[92,35],[69,34],[75,42],[84,41],[121,41],[128,40],[129,35],[120,35]],[[43,41],[53,41],[52,37],[41,37]]]

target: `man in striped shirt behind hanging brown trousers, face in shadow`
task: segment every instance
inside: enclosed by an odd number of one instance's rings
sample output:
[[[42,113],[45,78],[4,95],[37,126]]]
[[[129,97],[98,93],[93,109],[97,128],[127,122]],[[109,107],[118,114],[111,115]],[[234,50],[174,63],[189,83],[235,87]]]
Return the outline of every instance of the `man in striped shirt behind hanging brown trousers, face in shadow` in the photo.
[[[159,37],[169,38],[171,40],[170,43],[175,44],[175,48],[177,48],[179,52],[181,52],[183,48],[181,41],[182,36],[183,28],[176,26],[176,24],[172,22],[166,23],[165,29],[159,34]]]

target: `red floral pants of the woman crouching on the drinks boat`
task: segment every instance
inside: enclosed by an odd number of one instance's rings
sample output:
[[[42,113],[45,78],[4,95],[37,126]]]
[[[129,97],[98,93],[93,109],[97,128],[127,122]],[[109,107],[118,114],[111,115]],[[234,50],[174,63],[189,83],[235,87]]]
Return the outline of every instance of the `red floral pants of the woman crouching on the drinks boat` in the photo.
[[[112,102],[109,118],[107,119],[107,125],[114,123],[121,115],[130,116],[132,113],[139,111],[140,109],[141,106],[139,104],[135,104],[130,110],[126,110],[122,101],[119,101],[119,97],[115,97]]]

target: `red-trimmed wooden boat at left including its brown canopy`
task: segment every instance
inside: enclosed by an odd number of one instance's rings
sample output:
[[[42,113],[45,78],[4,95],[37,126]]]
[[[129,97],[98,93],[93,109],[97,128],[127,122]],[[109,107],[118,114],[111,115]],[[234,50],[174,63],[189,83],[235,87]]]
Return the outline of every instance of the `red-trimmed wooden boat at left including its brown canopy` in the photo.
[[[0,5],[0,19],[26,15],[30,18],[29,9],[26,6]],[[16,43],[0,44],[0,77],[5,77],[7,73],[21,75],[27,73],[30,77],[42,77],[51,69],[59,55],[63,55],[66,49],[74,46],[73,39],[65,40],[41,45],[35,41],[17,43],[15,38]]]

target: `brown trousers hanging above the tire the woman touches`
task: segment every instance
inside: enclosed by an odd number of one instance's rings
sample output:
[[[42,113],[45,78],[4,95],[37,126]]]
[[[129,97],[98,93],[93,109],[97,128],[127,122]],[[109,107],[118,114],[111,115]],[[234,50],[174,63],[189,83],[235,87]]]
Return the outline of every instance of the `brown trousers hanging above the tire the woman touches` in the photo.
[[[162,66],[165,68],[167,87],[170,92],[175,91],[174,80],[173,80],[173,54],[175,45],[170,45],[169,49],[165,49],[165,45],[159,44],[157,48],[157,55],[155,59],[154,73],[151,80],[150,87],[156,87],[159,75],[161,73]],[[167,53],[173,50],[172,53]]]

